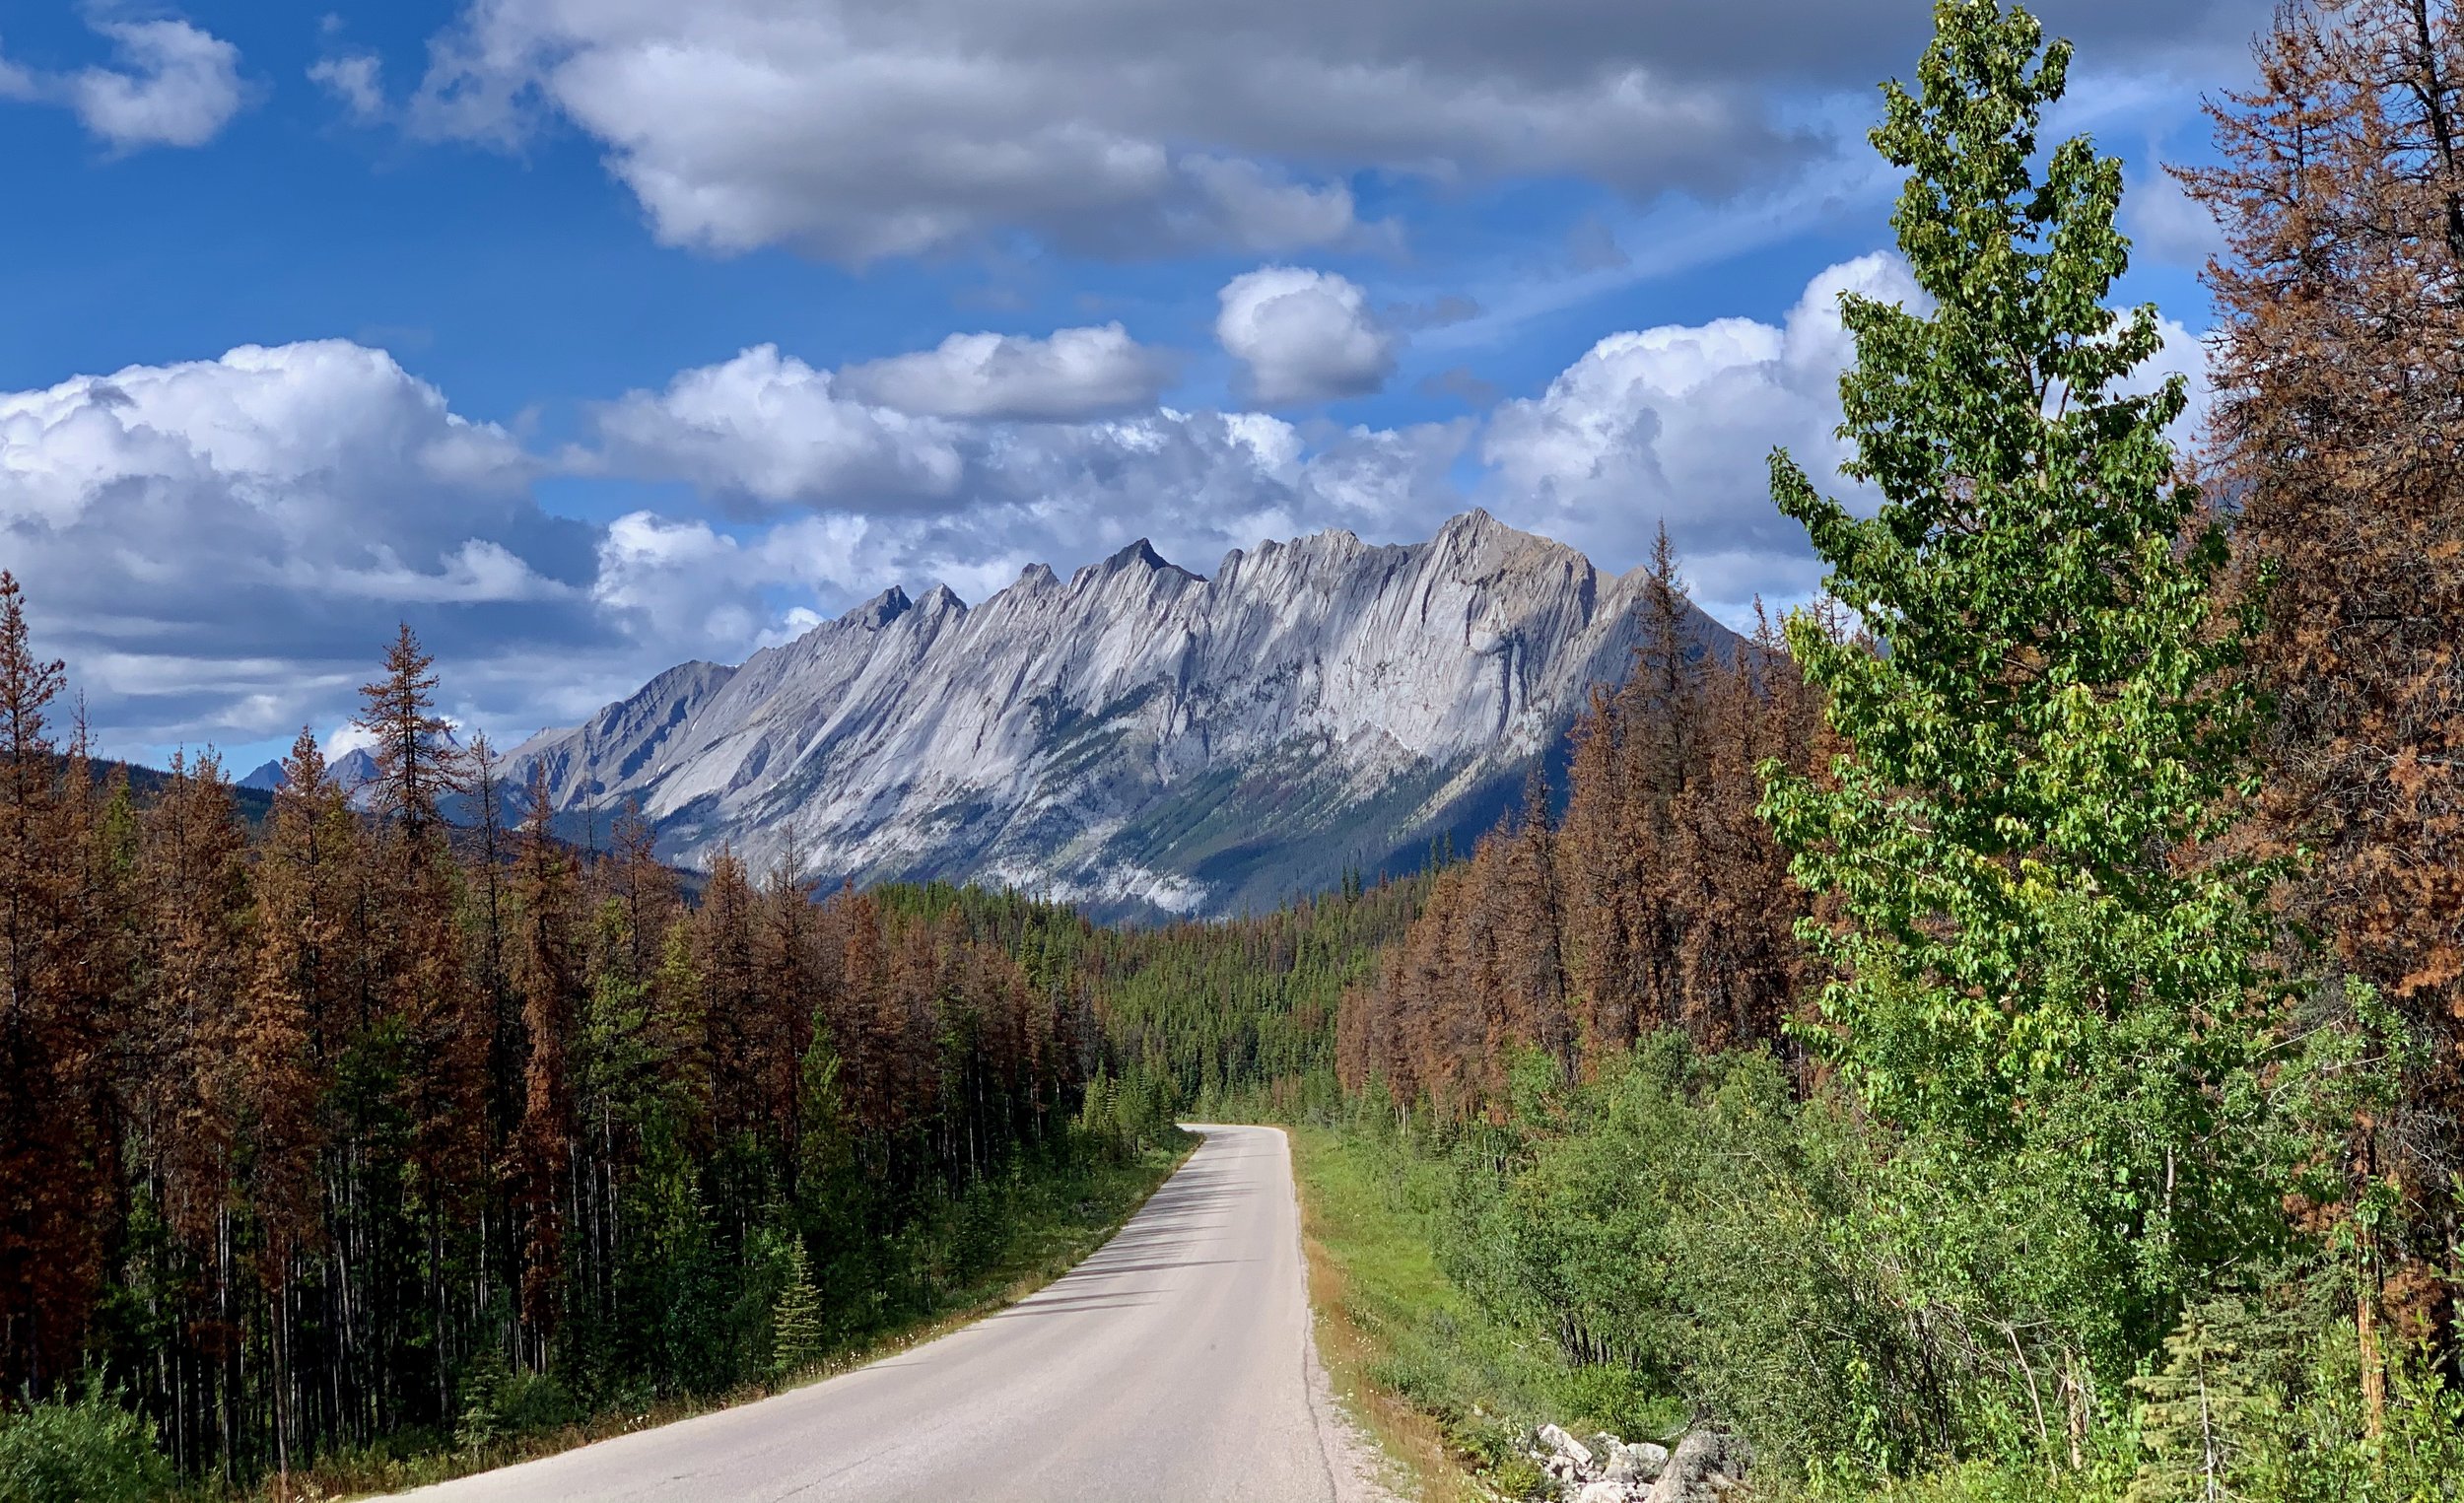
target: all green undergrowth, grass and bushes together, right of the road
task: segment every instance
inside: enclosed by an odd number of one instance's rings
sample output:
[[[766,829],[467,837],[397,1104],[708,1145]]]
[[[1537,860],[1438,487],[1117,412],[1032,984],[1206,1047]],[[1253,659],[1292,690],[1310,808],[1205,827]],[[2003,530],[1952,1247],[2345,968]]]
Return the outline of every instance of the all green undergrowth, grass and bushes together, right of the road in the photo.
[[[2348,1264],[2190,1308],[2070,1432],[2013,1372],[1991,1291],[1922,1284],[1944,1227],[1902,1215],[1846,1101],[1678,1035],[1582,1087],[1528,1057],[1518,1087],[1476,1128],[1360,1109],[1291,1128],[1321,1340],[1429,1498],[1550,1496],[1523,1459],[1542,1422],[1737,1429],[1767,1498],[2464,1496],[2464,1402],[2425,1363],[2393,1363],[2370,1436]]]

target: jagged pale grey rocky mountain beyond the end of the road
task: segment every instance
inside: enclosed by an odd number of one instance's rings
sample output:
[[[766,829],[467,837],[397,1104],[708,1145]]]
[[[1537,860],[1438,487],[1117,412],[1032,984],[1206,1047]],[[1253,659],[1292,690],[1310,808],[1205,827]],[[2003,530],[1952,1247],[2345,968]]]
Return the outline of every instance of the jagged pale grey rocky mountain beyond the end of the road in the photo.
[[[825,882],[976,880],[1222,914],[1469,843],[1631,663],[1641,572],[1488,512],[1429,542],[1266,542],[1212,577],[1138,542],[981,606],[892,589],[742,668],[685,663],[517,747],[557,808]],[[1700,653],[1735,636],[1690,618]]]

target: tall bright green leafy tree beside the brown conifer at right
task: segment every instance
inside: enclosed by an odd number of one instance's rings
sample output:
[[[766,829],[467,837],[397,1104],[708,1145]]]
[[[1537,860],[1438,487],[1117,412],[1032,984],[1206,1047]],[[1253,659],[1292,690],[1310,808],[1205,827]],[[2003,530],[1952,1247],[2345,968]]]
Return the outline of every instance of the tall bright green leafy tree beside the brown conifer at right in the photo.
[[[2269,870],[2210,853],[2259,707],[2166,439],[2183,379],[2134,379],[2156,310],[2107,306],[2122,165],[2040,153],[2070,47],[1996,0],[1934,20],[1873,133],[1922,301],[1843,298],[1843,468],[1880,510],[1772,458],[1870,633],[1789,623],[1848,752],[1767,764],[1764,816],[1836,904],[1801,926],[1833,966],[1811,1035],[1902,1133],[1915,1298],[2008,1348],[2020,1424],[2077,1456],[2097,1380],[2282,1230],[2252,1131]]]

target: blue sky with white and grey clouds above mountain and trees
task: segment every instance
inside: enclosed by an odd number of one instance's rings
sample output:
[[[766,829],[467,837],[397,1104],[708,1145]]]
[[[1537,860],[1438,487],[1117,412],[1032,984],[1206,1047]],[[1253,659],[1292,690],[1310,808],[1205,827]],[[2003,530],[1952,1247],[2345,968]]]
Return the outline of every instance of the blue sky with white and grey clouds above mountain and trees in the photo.
[[[2048,0],[2195,370],[2264,0]],[[276,0],[0,17],[0,567],[113,752],[503,739],[882,586],[1466,505],[1801,599],[1919,0]]]

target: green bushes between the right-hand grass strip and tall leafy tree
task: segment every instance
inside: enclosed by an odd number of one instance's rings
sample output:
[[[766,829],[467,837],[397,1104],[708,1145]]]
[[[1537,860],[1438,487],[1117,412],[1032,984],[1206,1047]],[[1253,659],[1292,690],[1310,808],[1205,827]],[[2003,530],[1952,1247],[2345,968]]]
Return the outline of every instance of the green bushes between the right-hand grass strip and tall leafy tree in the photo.
[[[2035,1232],[2023,1185],[1961,1200],[1895,1173],[1853,1104],[1796,1101],[1767,1055],[1703,1057],[1680,1035],[1589,1084],[1550,1062],[1515,1084],[1510,1119],[1454,1146],[1439,1257],[1552,1340],[1567,1417],[1653,1434],[1676,1400],[1749,1434],[1767,1473],[1848,1496],[1947,1456],[2043,1476],[2065,1451],[2072,1414],[2043,1375],[2075,1365],[2018,1350],[2043,1340],[2045,1303],[1996,1257]]]

